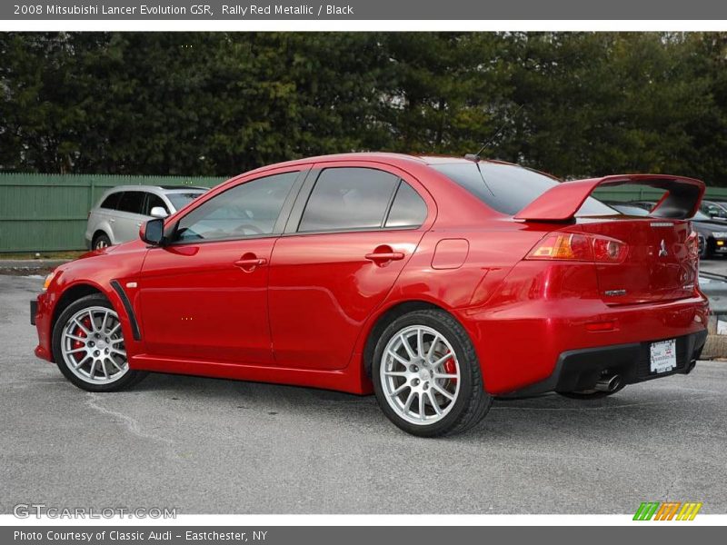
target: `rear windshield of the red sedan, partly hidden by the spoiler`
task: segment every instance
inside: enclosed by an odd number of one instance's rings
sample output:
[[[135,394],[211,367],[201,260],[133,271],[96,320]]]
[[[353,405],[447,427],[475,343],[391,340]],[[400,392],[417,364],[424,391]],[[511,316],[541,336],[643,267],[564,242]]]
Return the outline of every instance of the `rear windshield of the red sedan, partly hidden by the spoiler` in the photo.
[[[482,175],[475,163],[433,164],[432,168],[461,185],[468,192],[497,212],[514,215],[523,210],[559,182],[522,166],[500,163],[480,163]],[[484,180],[483,180],[484,179]],[[612,215],[610,206],[589,197],[576,214]]]

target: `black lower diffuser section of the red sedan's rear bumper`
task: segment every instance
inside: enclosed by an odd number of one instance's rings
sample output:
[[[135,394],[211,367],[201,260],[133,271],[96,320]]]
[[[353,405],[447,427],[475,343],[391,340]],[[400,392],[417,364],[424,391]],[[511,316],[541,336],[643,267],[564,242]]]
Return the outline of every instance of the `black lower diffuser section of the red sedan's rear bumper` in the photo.
[[[545,391],[591,390],[605,376],[619,375],[622,383],[651,381],[672,374],[692,372],[702,354],[707,331],[683,335],[676,339],[676,368],[656,373],[650,369],[650,342],[630,342],[612,346],[585,348],[563,352],[553,373],[544,381],[514,392],[514,396],[533,395]],[[655,340],[661,341],[661,339]]]

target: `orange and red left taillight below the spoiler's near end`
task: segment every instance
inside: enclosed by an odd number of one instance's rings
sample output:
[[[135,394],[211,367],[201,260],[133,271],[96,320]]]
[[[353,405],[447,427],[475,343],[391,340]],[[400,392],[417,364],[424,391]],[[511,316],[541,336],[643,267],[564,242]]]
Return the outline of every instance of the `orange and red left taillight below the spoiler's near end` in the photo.
[[[606,236],[551,233],[537,243],[525,259],[622,263],[628,250],[625,243]]]

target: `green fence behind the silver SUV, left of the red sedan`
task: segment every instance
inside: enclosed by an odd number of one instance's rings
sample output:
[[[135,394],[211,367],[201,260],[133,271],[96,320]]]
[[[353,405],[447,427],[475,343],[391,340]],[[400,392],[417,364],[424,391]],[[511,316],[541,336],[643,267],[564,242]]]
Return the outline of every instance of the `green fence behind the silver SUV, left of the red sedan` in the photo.
[[[224,178],[0,174],[0,253],[82,250],[88,211],[116,185],[203,185]]]

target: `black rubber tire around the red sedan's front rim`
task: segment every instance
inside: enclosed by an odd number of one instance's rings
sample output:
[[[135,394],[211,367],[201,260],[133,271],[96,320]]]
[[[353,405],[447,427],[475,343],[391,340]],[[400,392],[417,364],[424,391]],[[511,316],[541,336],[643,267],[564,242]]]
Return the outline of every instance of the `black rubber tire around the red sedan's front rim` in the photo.
[[[58,369],[60,369],[60,371],[64,374],[66,379],[73,382],[75,386],[85,391],[120,391],[131,388],[132,386],[134,386],[134,384],[144,379],[144,377],[148,373],[129,369],[124,373],[123,376],[121,376],[116,381],[95,384],[92,382],[81,380],[74,374],[74,372],[71,371],[71,369],[68,367],[68,364],[65,362],[61,347],[65,325],[77,312],[91,307],[105,307],[107,309],[111,309],[114,312],[117,312],[114,306],[101,294],[87,295],[79,299],[78,301],[72,302],[70,305],[68,305],[65,308],[64,312],[61,312],[61,315],[58,317],[58,320],[55,322],[55,326],[53,328],[52,344],[55,364],[58,366]]]

